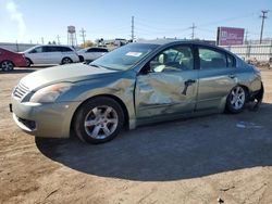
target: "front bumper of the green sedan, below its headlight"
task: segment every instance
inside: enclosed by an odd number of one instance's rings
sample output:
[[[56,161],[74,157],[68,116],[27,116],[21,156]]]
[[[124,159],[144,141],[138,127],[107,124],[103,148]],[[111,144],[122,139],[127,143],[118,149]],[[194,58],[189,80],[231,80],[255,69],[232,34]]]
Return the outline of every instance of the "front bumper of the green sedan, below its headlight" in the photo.
[[[25,132],[42,138],[69,138],[79,102],[21,103],[12,98],[13,119]]]

